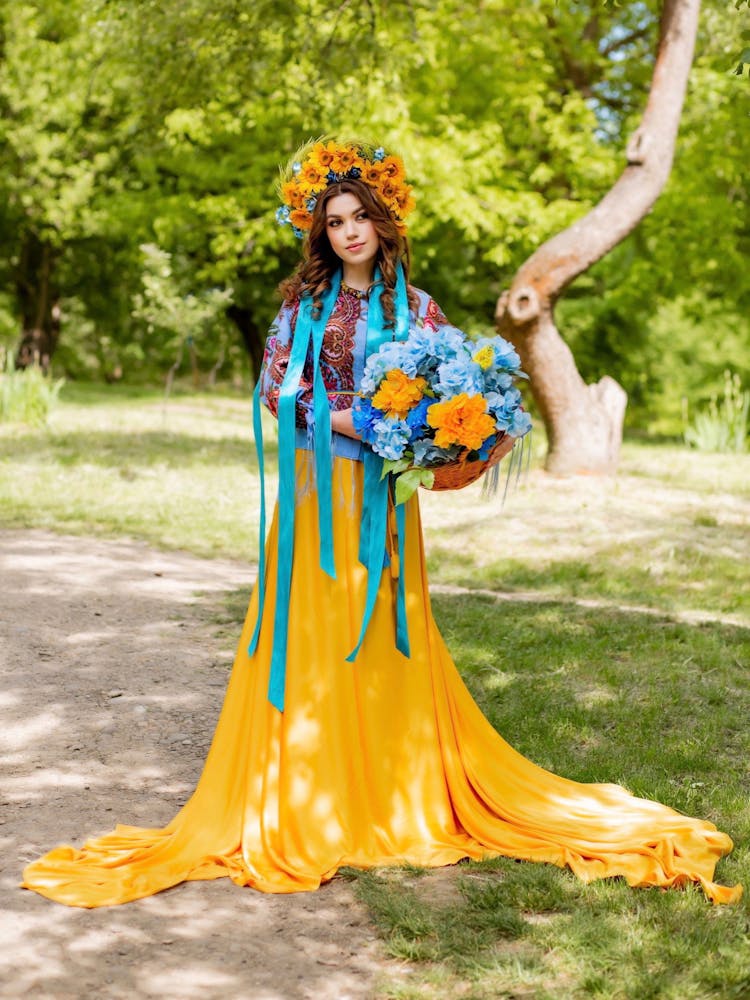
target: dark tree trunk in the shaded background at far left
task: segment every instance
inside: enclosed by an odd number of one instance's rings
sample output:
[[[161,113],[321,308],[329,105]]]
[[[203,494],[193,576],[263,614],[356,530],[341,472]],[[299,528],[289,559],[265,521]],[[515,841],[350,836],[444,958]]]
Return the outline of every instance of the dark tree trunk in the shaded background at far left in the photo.
[[[21,309],[21,338],[16,367],[35,361],[46,371],[60,338],[60,293],[55,282],[56,256],[50,243],[26,233],[18,270],[16,294]]]

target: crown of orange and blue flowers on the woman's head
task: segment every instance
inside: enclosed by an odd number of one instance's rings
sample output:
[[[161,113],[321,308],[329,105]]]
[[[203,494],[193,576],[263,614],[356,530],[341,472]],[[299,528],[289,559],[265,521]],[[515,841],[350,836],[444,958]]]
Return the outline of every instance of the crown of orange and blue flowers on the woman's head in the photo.
[[[306,143],[282,169],[279,194],[283,205],[276,210],[277,221],[291,226],[301,239],[312,226],[318,196],[343,180],[368,184],[393,216],[399,232],[406,232],[404,219],[415,202],[401,157],[382,146],[325,138]]]

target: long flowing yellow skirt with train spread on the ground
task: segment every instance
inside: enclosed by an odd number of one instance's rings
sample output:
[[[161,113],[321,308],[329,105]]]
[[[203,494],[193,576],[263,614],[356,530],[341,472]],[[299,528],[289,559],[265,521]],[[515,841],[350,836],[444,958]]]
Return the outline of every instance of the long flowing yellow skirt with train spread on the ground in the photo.
[[[309,472],[298,452],[298,471]],[[416,498],[407,508],[406,592],[411,657],[394,645],[392,574],[356,663],[365,601],[358,561],[362,465],[334,460],[338,578],[318,566],[317,502],[298,503],[286,702],[267,699],[275,605],[277,520],[267,540],[258,648],[247,654],[250,600],[224,707],[203,774],[164,829],[117,826],[81,850],[58,847],[23,885],[70,906],[139,899],[189,879],[228,876],[263,892],[316,889],[342,865],[438,866],[505,855],[567,865],[588,881],[700,883],[714,902],[732,842],[713,824],[632,796],[579,784],[513,750],[464,686],[430,610]]]

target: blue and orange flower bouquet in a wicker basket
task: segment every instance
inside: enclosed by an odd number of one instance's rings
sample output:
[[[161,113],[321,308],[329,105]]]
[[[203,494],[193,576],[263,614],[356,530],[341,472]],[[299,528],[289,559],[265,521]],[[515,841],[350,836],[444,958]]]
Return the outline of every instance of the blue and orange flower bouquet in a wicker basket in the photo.
[[[492,464],[503,435],[519,438],[531,429],[514,384],[527,376],[515,349],[502,337],[470,340],[451,326],[420,327],[403,341],[390,341],[365,364],[354,427],[362,441],[385,459],[393,473],[396,503],[418,486],[458,488]],[[468,477],[460,470],[479,463]],[[437,482],[436,482],[437,474]]]

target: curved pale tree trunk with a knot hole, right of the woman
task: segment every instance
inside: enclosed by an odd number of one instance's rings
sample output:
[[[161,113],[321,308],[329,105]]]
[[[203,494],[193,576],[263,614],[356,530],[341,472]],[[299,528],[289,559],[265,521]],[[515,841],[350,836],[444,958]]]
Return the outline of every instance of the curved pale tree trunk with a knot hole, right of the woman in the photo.
[[[700,0],[665,0],[648,103],[628,143],[627,166],[598,205],[529,257],[498,299],[498,330],[521,356],[547,429],[550,472],[617,468],[627,395],[609,376],[584,383],[555,326],[554,306],[574,278],[635,229],[667,182],[699,10]]]

